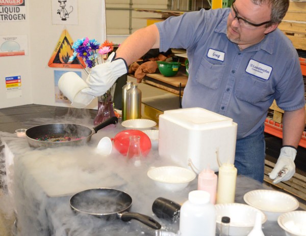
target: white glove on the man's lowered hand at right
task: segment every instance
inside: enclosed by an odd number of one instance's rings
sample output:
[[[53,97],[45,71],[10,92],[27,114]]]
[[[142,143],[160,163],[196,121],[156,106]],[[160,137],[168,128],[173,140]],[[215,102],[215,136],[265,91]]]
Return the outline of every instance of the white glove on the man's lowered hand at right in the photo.
[[[290,146],[282,147],[281,154],[279,154],[278,160],[273,170],[271,173],[269,173],[270,179],[274,180],[273,184],[291,179],[295,173],[295,156],[296,149]]]

